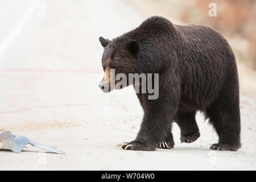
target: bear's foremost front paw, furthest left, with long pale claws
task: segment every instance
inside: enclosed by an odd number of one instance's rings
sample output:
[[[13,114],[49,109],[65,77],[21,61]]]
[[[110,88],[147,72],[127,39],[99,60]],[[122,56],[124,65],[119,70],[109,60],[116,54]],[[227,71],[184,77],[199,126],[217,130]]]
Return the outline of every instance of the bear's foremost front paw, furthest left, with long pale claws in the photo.
[[[119,143],[115,148],[122,148],[123,150],[141,150],[141,151],[154,151],[155,147],[149,146],[144,142],[132,141],[132,142],[125,142]]]

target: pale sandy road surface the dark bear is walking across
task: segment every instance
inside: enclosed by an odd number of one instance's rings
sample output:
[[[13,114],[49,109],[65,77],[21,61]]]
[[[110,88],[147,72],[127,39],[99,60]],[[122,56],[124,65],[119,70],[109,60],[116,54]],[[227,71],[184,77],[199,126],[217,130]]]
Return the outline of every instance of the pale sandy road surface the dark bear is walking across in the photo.
[[[0,131],[57,146],[67,154],[30,146],[21,154],[0,151],[1,170],[256,169],[255,103],[245,95],[242,148],[237,152],[209,150],[217,135],[200,114],[201,137],[194,143],[181,144],[174,125],[172,150],[115,150],[116,144],[136,137],[143,111],[132,88],[109,94],[98,89],[102,76],[98,37],[121,35],[146,16],[117,0],[47,1],[46,10],[46,16],[35,10],[0,57]]]

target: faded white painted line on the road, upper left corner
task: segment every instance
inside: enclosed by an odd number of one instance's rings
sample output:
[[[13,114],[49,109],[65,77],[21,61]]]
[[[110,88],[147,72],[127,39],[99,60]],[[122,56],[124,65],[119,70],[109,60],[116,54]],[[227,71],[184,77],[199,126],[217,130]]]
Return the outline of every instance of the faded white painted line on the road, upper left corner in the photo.
[[[39,1],[32,1],[31,5],[25,11],[24,15],[20,18],[19,23],[16,24],[16,26],[10,32],[9,36],[7,36],[5,40],[3,40],[2,44],[0,45],[0,59],[4,55],[6,50],[14,42],[15,38],[19,35],[19,32],[23,29],[24,26],[26,26],[27,21],[30,19],[35,11],[38,2]]]

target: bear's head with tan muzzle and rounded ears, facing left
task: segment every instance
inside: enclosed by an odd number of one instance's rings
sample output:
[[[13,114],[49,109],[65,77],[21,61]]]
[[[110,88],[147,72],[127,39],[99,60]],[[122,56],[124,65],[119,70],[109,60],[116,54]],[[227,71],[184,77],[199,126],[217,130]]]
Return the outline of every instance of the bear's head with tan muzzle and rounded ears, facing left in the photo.
[[[100,37],[99,40],[104,47],[101,63],[105,74],[99,84],[101,90],[110,92],[131,85],[129,73],[137,73],[139,65],[137,60],[139,43],[137,40],[126,40],[124,37],[113,40]]]

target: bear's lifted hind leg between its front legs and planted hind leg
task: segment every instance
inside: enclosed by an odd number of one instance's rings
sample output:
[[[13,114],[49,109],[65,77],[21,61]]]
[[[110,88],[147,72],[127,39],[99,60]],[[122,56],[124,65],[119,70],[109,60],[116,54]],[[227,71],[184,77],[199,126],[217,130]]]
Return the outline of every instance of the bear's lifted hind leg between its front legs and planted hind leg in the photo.
[[[192,143],[200,137],[199,128],[196,123],[196,111],[188,113],[178,112],[175,121],[180,127],[181,143]]]

